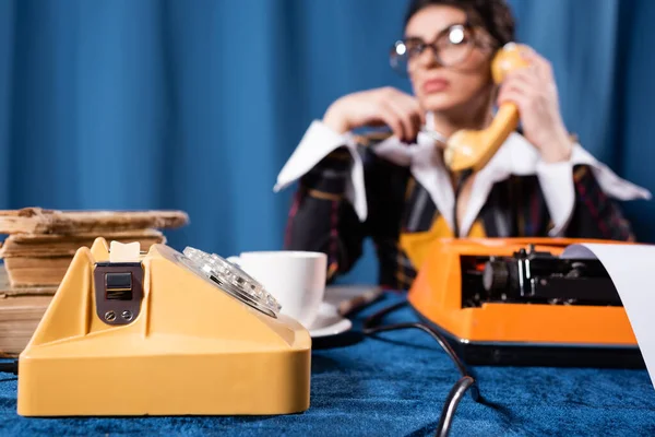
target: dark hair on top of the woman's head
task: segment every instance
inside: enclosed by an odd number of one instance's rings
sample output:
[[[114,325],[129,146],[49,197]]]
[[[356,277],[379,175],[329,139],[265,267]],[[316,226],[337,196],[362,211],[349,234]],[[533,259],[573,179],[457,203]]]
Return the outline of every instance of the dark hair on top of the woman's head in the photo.
[[[405,27],[414,14],[431,5],[463,10],[471,23],[484,27],[499,47],[514,40],[514,16],[505,0],[412,0],[405,15]]]

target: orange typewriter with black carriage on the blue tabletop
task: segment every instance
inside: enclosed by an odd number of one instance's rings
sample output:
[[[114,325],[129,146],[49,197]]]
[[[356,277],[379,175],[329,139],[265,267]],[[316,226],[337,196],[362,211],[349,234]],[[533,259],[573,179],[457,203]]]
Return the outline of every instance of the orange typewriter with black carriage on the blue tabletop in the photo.
[[[469,364],[643,367],[603,264],[559,257],[577,243],[438,240],[409,303]]]

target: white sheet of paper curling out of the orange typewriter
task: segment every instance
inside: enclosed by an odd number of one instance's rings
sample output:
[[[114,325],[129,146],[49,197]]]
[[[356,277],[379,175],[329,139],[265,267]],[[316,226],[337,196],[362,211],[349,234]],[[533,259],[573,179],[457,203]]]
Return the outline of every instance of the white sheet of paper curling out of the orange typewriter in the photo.
[[[597,259],[621,297],[655,387],[655,246],[583,244],[569,246],[562,258]]]

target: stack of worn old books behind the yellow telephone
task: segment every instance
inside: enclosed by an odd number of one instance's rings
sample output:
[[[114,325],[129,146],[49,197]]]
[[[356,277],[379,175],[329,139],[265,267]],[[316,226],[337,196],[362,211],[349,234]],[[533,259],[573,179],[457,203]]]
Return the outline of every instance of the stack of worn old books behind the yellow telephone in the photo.
[[[181,211],[0,211],[0,356],[25,347],[80,247],[104,237],[147,250],[188,222]]]

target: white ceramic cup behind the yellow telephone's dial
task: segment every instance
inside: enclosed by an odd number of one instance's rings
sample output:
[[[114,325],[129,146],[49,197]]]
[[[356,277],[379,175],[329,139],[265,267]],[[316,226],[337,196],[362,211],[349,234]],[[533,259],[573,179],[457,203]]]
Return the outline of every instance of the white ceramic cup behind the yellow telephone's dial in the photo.
[[[229,257],[282,305],[281,312],[307,329],[317,319],[325,294],[327,257],[322,252],[274,250]]]

